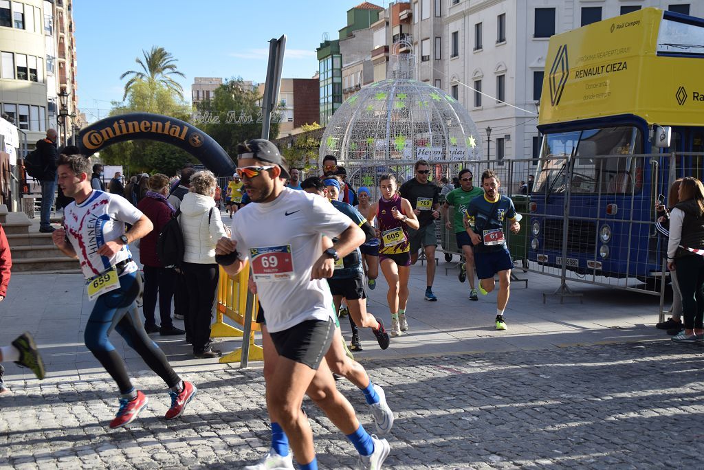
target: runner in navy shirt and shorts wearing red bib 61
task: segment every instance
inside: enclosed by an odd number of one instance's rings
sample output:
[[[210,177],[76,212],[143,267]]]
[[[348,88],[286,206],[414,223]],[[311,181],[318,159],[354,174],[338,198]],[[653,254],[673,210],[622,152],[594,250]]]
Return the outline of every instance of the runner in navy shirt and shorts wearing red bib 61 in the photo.
[[[496,329],[505,330],[503,311],[508,304],[509,285],[513,261],[503,234],[503,222],[509,220],[510,231],[517,234],[520,224],[513,201],[501,196],[501,182],[493,170],[482,173],[484,194],[477,196],[467,206],[465,227],[474,245],[474,265],[477,267],[479,292],[486,296],[494,291],[494,274],[498,274],[496,299]]]

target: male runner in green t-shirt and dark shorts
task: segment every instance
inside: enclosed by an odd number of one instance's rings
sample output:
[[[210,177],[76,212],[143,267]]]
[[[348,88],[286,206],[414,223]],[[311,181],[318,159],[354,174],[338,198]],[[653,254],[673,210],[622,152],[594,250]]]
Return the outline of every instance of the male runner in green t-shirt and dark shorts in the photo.
[[[472,186],[472,177],[474,177],[474,175],[467,168],[460,170],[459,177],[460,187],[448,193],[445,198],[445,204],[442,207],[442,213],[446,220],[446,229],[455,229],[457,246],[465,255],[465,262],[460,266],[458,279],[460,279],[460,282],[464,282],[467,278],[467,273],[469,273],[470,300],[479,300],[477,298],[477,289],[474,288],[474,252],[472,250],[472,240],[469,234],[467,234],[467,230],[465,230],[465,217],[467,217],[467,205],[470,205],[472,199],[484,194],[484,191],[482,188]],[[447,215],[447,210],[451,205],[455,206],[455,217],[453,217],[453,220],[450,220]]]

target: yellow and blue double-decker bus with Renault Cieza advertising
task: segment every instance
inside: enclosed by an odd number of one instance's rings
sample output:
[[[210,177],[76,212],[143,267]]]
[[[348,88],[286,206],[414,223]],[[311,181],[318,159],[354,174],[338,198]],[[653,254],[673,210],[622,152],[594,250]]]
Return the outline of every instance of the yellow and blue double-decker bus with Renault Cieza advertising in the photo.
[[[655,276],[655,201],[701,177],[704,20],[643,8],[557,34],[544,77],[529,258],[559,267],[566,241],[571,271]]]

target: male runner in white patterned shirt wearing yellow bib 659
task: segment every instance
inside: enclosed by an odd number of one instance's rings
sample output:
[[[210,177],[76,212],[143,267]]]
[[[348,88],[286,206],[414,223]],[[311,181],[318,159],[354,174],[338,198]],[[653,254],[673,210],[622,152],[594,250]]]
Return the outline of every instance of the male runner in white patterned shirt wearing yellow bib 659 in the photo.
[[[64,227],[54,231],[52,238],[65,255],[80,260],[89,299],[96,300],[84,340],[120,388],[120,409],[110,427],[129,424],[148,401],[144,393],[132,386],[125,361],[108,338],[113,329],[170,388],[171,407],[165,418],[173,419],[184,412],[196,394],[196,387],[181,380],[144,331],[135,303],[142,291],[142,281],[128,247],[153,226],[146,215],[122,196],[92,189],[90,173],[90,159],[84,155],[59,158],[58,184],[75,202],[65,208]],[[125,223],[132,224],[127,232]]]

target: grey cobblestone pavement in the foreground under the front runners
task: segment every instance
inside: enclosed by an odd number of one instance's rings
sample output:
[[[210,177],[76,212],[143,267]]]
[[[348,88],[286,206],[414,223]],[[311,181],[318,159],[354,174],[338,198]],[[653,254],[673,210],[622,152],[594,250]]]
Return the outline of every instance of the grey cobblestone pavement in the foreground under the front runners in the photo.
[[[701,468],[703,352],[653,341],[364,364],[397,417],[389,469]],[[105,375],[13,381],[0,398],[0,469],[232,469],[265,452],[260,369],[184,378],[199,394],[183,417],[165,421],[163,384],[140,373],[149,409],[114,431]],[[339,386],[373,429],[363,394]],[[306,410],[321,468],[355,466],[352,445],[310,402]]]

